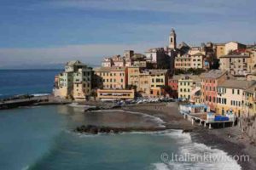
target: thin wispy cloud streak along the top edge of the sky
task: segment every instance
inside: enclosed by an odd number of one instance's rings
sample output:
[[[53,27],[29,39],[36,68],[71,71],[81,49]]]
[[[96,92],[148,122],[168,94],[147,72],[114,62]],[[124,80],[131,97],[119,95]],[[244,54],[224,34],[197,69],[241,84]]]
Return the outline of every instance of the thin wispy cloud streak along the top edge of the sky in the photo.
[[[228,14],[255,4],[253,0],[58,0],[57,8],[100,9],[112,11],[155,11],[178,14]]]

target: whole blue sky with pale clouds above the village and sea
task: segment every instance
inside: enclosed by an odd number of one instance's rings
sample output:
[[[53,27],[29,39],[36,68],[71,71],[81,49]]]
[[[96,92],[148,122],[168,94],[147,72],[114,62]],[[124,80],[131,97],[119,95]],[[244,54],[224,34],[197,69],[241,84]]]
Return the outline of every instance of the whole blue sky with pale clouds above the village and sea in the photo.
[[[256,41],[255,0],[1,0],[0,69],[80,59],[100,65],[125,49],[177,42]]]

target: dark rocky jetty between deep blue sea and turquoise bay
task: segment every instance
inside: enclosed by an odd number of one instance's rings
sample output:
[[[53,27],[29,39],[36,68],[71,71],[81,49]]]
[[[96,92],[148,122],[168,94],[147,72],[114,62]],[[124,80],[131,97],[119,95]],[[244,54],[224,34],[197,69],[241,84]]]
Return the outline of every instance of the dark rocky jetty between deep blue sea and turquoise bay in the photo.
[[[0,100],[0,110],[14,109],[21,106],[32,106],[32,105],[64,105],[72,103],[68,99],[58,99],[53,95],[43,95],[43,96],[32,96],[24,95],[19,97],[14,97],[12,99],[2,99]]]

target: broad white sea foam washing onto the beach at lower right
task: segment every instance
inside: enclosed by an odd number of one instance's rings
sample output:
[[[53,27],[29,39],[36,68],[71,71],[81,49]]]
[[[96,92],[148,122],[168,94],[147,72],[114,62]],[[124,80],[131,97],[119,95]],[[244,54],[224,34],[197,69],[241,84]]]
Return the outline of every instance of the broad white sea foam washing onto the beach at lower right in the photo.
[[[158,169],[222,169],[222,170],[240,170],[241,166],[223,150],[212,149],[206,144],[194,143],[189,133],[182,133],[182,130],[172,130],[161,133],[177,141],[177,156],[183,156],[183,159],[199,158],[199,161],[177,161],[172,160],[172,153],[169,154],[169,160],[166,162],[156,162],[152,164],[155,170]],[[203,156],[208,158],[207,161],[201,160]],[[213,159],[214,160],[213,160]]]

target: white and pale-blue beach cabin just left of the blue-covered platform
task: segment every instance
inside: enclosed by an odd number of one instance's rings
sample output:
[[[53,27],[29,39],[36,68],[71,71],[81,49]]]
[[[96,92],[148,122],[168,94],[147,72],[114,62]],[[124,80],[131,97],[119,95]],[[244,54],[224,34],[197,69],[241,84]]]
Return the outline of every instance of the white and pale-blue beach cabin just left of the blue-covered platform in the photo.
[[[205,113],[210,111],[207,105],[179,105],[179,111],[181,114],[195,114],[195,113]]]

